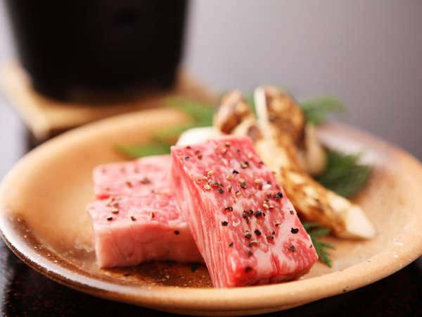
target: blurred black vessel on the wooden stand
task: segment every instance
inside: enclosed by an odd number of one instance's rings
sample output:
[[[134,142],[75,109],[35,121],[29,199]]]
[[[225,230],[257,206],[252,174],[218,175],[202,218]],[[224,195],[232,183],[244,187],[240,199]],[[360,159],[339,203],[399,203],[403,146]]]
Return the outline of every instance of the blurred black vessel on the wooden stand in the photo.
[[[187,0],[6,0],[20,63],[56,99],[166,88],[181,58]]]

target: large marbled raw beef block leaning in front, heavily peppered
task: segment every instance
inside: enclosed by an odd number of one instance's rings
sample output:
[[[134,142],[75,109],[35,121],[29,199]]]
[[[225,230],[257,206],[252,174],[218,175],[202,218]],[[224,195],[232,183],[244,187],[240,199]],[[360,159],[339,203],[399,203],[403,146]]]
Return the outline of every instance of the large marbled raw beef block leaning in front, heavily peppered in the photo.
[[[318,259],[293,205],[248,137],[172,147],[172,180],[215,287],[290,280]]]

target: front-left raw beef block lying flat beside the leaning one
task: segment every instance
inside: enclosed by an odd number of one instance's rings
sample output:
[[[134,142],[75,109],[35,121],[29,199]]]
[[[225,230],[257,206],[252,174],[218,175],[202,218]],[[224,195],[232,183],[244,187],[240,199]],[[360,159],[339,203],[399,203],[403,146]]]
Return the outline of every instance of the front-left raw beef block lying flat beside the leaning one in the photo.
[[[143,261],[202,262],[184,217],[168,194],[113,197],[87,207],[98,265]]]

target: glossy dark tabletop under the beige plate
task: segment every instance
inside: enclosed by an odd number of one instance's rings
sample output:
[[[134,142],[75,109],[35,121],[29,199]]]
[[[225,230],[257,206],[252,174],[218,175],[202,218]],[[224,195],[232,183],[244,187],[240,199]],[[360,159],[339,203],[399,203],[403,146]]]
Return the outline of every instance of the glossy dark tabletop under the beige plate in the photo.
[[[0,99],[0,178],[27,149],[30,137]],[[32,270],[0,241],[1,313],[4,316],[163,316],[165,313],[99,299]],[[422,316],[422,257],[359,290],[266,316]]]

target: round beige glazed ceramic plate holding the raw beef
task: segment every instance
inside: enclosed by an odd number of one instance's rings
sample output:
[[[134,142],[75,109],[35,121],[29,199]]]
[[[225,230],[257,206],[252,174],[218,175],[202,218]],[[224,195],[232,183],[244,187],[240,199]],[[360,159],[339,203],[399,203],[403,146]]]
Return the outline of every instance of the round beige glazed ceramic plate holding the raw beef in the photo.
[[[357,289],[407,266],[422,254],[422,167],[404,151],[339,124],[319,128],[330,147],[363,151],[373,164],[355,197],[376,226],[371,241],[327,238],[333,267],[316,263],[292,282],[213,289],[205,266],[145,263],[96,266],[85,206],[94,198],[91,171],[124,159],[115,144],[145,142],[154,130],[186,120],[170,109],[130,113],[56,137],[27,154],[0,189],[0,229],[9,247],[35,270],[75,290],[162,311],[245,315],[279,311]],[[259,296],[258,296],[259,295]]]

